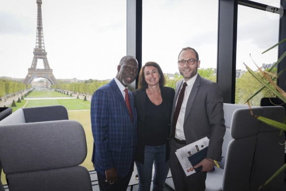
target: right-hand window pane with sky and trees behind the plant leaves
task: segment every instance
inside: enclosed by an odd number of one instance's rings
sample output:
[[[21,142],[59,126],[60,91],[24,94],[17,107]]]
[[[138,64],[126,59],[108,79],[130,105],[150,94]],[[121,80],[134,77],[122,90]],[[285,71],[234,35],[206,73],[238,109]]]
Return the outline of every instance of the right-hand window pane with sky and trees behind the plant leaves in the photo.
[[[259,68],[268,68],[277,61],[277,47],[261,53],[278,42],[279,18],[279,14],[238,6],[236,104],[244,104],[262,86],[247,72],[243,63],[257,71],[254,62]],[[250,104],[259,106],[260,99],[269,96],[272,94],[262,91],[250,100]]]

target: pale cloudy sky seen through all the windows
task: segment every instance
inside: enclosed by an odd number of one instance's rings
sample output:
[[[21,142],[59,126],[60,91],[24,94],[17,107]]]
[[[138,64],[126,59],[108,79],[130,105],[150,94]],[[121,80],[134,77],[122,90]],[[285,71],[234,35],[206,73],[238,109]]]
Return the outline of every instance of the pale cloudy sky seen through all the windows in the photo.
[[[279,1],[259,2],[279,6]],[[174,74],[179,51],[191,46],[201,68],[216,68],[217,9],[216,0],[143,0],[142,63],[157,62]],[[41,10],[45,51],[57,79],[116,75],[126,55],[126,0],[42,0]],[[28,74],[36,18],[36,0],[0,0],[0,76]],[[243,62],[255,69],[250,54],[259,66],[277,60],[277,48],[261,52],[278,42],[278,25],[279,15],[239,5],[237,69],[245,70]],[[42,68],[39,59],[37,69]]]

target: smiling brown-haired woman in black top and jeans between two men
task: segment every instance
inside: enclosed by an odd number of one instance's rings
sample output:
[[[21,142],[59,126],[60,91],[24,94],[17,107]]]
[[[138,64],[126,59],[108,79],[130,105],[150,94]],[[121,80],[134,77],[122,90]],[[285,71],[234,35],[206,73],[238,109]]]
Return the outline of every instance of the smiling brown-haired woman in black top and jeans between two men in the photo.
[[[153,191],[163,191],[169,172],[169,131],[175,90],[164,87],[166,79],[155,62],[147,62],[133,92],[137,110],[138,149],[136,166],[139,191],[150,191],[154,163]]]

